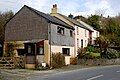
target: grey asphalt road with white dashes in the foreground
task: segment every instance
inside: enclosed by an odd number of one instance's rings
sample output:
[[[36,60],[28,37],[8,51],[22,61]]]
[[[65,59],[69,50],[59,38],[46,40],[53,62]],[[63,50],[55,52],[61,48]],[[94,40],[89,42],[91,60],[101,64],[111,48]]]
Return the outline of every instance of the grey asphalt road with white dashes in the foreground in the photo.
[[[28,80],[120,80],[120,66],[92,67],[45,76],[30,76]]]

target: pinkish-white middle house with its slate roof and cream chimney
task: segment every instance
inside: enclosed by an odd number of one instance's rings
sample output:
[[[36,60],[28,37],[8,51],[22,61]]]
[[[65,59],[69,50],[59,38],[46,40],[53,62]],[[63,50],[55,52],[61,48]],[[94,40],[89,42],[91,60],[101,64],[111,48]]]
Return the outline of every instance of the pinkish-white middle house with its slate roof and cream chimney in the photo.
[[[70,26],[73,26],[75,28],[74,31],[74,57],[77,56],[77,51],[79,48],[87,47],[90,40],[92,40],[92,32],[94,29],[87,27],[86,25],[81,24],[79,21],[74,20],[72,18],[69,18],[65,15],[62,15],[58,13],[57,5],[53,5],[53,8],[51,10],[51,15],[59,18],[63,22],[69,24]],[[91,39],[90,39],[91,37]],[[91,41],[92,43],[92,41]]]

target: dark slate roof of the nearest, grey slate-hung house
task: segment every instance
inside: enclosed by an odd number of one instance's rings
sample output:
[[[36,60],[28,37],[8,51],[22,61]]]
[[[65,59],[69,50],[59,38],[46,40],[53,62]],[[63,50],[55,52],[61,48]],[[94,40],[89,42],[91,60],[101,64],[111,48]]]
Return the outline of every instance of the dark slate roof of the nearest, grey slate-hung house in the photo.
[[[70,29],[74,29],[74,27],[68,25],[67,23],[63,22],[62,20],[60,20],[56,17],[51,16],[50,14],[45,14],[43,12],[40,12],[40,11],[33,9],[31,7],[28,7],[26,5],[24,5],[24,6],[27,7],[28,9],[30,9],[31,11],[35,12],[37,15],[44,17],[47,21],[49,21],[51,23],[58,24],[58,25],[61,25],[61,26],[64,26],[64,27],[67,27]]]

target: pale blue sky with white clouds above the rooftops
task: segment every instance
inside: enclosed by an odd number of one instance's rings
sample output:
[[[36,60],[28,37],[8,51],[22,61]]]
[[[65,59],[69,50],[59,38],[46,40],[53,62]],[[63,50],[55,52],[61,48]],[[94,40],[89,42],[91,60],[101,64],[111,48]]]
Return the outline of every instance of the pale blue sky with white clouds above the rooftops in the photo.
[[[120,0],[0,0],[0,11],[12,10],[14,13],[24,5],[44,13],[50,13],[53,4],[57,4],[58,12],[64,15],[88,17],[91,14],[116,16],[120,12]]]

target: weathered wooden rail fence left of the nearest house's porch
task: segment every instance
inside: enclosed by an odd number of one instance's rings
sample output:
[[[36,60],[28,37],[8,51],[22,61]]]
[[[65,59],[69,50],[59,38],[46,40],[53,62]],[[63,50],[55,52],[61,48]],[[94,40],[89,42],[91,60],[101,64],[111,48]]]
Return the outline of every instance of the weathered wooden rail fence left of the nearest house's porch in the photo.
[[[0,68],[24,68],[24,57],[0,57]]]

